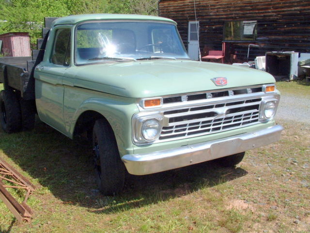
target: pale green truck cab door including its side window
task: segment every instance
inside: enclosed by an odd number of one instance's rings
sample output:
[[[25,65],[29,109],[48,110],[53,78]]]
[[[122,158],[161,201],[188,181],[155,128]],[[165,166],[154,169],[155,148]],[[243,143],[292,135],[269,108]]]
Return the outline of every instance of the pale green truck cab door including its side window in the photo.
[[[35,68],[35,99],[40,119],[56,130],[65,133],[63,120],[63,76],[70,66],[71,29],[55,27],[47,44],[44,61]],[[48,58],[46,58],[48,56]]]

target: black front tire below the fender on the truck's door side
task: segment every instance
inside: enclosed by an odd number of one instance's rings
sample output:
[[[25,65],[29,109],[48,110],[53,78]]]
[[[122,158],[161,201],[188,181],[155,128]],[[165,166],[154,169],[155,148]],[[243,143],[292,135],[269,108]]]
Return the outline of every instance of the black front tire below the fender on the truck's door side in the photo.
[[[123,190],[125,166],[120,158],[114,133],[105,119],[93,126],[93,161],[100,192],[113,196]]]

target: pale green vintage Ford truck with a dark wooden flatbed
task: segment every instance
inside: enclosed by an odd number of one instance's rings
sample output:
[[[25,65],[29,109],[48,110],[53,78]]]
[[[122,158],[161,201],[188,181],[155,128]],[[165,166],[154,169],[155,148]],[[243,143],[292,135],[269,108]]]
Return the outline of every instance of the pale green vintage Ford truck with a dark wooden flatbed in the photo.
[[[272,75],[190,60],[171,19],[62,17],[46,41],[32,69],[22,58],[0,59],[1,126],[29,130],[37,113],[72,139],[88,135],[105,195],[123,189],[125,172],[214,159],[234,166],[246,150],[279,140]]]

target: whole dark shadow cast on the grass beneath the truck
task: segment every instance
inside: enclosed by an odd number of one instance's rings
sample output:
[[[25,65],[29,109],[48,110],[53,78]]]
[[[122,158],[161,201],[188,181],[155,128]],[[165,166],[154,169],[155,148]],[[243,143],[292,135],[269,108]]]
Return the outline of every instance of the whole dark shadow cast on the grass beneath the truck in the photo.
[[[247,174],[214,162],[146,176],[128,175],[123,192],[104,197],[93,178],[92,150],[36,121],[32,132],[0,132],[0,150],[63,204],[78,204],[94,213],[115,213],[180,197]]]

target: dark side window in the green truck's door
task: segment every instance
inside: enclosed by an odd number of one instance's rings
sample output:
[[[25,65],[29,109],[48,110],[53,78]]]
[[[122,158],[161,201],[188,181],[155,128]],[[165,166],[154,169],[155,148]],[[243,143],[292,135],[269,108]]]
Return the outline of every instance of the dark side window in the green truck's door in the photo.
[[[70,29],[59,29],[56,32],[50,62],[56,65],[70,65]]]

